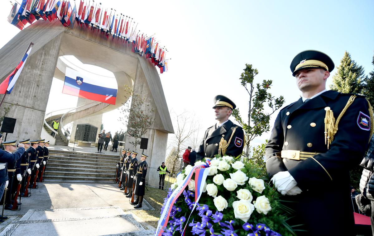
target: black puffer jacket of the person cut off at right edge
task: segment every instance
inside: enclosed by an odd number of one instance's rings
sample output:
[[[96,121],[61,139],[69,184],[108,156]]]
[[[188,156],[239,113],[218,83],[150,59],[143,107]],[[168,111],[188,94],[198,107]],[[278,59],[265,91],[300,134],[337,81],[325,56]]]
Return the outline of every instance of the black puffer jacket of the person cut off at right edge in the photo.
[[[374,135],[371,137],[367,155],[362,159],[360,165],[364,167],[360,180],[360,191],[365,197],[374,201]]]

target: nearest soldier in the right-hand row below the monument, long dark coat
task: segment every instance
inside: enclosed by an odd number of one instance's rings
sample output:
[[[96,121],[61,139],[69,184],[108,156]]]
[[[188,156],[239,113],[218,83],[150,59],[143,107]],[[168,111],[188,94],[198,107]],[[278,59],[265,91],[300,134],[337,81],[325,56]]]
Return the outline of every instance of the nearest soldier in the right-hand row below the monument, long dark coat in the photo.
[[[143,196],[145,192],[145,176],[147,175],[148,165],[145,159],[148,156],[142,155],[140,156],[140,163],[137,168],[137,178],[135,183],[135,195],[137,195],[137,200],[131,203],[131,205],[136,205],[134,208],[141,208],[141,204],[143,202]]]

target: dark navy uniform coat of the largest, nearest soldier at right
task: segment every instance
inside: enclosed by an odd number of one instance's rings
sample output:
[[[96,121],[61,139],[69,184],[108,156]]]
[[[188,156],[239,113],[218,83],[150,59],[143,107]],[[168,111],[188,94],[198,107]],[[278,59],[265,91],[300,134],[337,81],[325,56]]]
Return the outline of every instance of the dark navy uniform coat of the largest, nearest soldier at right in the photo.
[[[368,148],[371,120],[367,100],[357,96],[346,109],[329,149],[325,144],[324,133],[325,109],[331,109],[336,120],[351,95],[330,90],[305,103],[300,98],[286,106],[279,112],[265,148],[269,177],[280,171],[288,171],[303,191],[299,195],[284,198],[297,202],[297,214],[304,221],[300,223],[306,223],[312,235],[321,232],[325,232],[325,235],[339,235],[344,232],[332,233],[332,230],[344,231],[350,226],[354,228],[349,170],[359,165]],[[292,156],[281,158],[282,151],[287,152],[284,150],[311,154],[304,155],[300,160],[296,160],[297,155],[296,159],[290,159],[294,158]],[[320,154],[313,155],[313,152]],[[317,222],[316,219],[328,224],[323,229],[316,224],[311,225]]]

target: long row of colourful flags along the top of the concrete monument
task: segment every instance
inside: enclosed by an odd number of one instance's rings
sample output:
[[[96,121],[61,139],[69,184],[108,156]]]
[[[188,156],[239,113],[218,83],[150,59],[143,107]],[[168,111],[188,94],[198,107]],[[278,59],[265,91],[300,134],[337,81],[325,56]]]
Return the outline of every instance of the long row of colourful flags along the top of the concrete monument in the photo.
[[[107,39],[129,44],[132,52],[150,58],[160,68],[160,73],[168,71],[165,47],[154,37],[141,33],[133,18],[122,13],[118,15],[113,9],[104,9],[101,3],[79,0],[79,6],[76,6],[75,1],[71,4],[70,0],[22,0],[20,4],[13,4],[8,22],[22,30],[27,23],[33,24],[40,18],[49,22],[58,19],[69,28],[74,25],[90,28],[92,33],[100,32]]]

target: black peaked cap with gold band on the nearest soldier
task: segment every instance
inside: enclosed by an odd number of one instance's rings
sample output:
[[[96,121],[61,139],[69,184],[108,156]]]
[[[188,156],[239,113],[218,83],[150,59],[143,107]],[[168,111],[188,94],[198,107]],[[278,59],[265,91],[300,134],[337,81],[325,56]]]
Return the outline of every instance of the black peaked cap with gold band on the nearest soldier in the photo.
[[[295,76],[295,72],[304,68],[322,68],[328,72],[331,72],[334,67],[334,62],[329,56],[316,50],[306,50],[300,52],[295,56],[291,62],[291,65],[289,66],[293,76]]]

